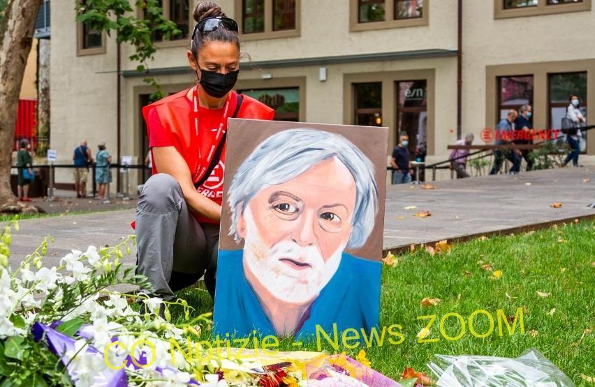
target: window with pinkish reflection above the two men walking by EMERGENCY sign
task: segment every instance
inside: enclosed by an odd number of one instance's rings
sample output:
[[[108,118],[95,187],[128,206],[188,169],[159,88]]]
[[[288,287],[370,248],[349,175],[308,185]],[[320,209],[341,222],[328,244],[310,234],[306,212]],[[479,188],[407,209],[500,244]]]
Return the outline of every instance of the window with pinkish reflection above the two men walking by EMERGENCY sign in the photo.
[[[522,105],[533,107],[533,75],[499,77],[498,86],[499,120],[506,118],[510,109],[518,110]]]

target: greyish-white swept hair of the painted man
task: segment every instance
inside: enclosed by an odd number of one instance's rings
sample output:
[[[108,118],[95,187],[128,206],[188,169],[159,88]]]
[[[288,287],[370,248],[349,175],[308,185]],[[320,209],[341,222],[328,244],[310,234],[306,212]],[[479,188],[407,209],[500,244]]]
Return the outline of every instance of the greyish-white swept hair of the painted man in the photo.
[[[283,184],[328,158],[337,158],[355,180],[355,212],[347,248],[360,248],[374,229],[379,193],[372,162],[348,139],[323,130],[298,128],[268,137],[242,162],[228,191],[230,235],[237,235],[237,218],[263,188]]]

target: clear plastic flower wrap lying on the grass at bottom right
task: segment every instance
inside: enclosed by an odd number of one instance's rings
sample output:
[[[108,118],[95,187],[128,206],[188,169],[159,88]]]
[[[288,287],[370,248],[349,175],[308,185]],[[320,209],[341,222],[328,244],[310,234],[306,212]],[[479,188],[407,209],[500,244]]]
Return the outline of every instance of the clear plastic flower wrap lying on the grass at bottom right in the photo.
[[[428,367],[439,377],[439,387],[574,387],[564,372],[536,349],[518,358],[436,355]]]

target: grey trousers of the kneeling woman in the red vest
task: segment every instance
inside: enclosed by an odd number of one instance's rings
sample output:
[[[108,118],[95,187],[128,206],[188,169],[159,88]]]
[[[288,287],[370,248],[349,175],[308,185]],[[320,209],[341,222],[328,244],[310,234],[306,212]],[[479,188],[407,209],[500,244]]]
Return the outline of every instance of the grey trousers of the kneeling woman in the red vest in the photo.
[[[192,215],[179,183],[168,174],[147,180],[136,208],[139,274],[165,300],[205,275],[214,295],[219,225],[199,223]]]

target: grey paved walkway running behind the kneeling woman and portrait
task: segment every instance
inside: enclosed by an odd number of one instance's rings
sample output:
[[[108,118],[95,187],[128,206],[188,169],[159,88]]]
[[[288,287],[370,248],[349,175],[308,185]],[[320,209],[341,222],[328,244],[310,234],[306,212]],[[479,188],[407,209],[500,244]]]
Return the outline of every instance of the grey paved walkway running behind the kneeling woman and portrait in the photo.
[[[432,185],[433,190],[420,185],[388,187],[385,250],[595,215],[595,209],[587,207],[595,202],[595,167],[437,181]],[[562,206],[550,207],[554,202]],[[404,209],[407,206],[417,208]],[[414,214],[419,211],[432,215],[417,218]],[[18,266],[48,234],[55,243],[47,250],[47,266],[58,264],[59,258],[73,248],[115,245],[123,236],[133,233],[130,222],[134,217],[135,210],[129,208],[21,220],[20,231],[13,234],[10,266]],[[124,262],[135,263],[134,250]]]

